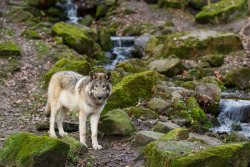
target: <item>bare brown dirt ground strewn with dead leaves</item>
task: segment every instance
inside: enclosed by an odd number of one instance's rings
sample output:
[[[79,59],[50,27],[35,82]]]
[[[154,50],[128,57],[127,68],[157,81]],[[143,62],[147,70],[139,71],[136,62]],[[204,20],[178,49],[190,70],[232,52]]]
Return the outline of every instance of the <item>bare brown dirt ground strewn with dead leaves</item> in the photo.
[[[111,19],[122,22],[122,25],[132,25],[140,23],[152,23],[160,25],[165,21],[172,20],[178,31],[189,31],[195,29],[214,29],[225,32],[239,33],[241,28],[250,21],[249,17],[238,19],[227,25],[197,25],[190,14],[180,10],[156,10],[154,7],[137,0],[122,1],[116,10],[122,11],[125,8],[135,10],[137,13],[129,16],[114,16]],[[21,49],[22,57],[18,58],[19,69],[13,73],[8,73],[6,78],[0,78],[0,149],[4,140],[16,132],[31,132],[37,135],[46,135],[47,131],[37,131],[36,124],[46,122],[48,119],[44,116],[46,104],[46,90],[42,89],[44,74],[48,72],[53,65],[53,60],[49,56],[41,56],[35,47],[35,41],[20,37],[25,29],[24,24],[5,23],[8,30],[13,31],[13,35],[0,34],[0,39],[13,41]],[[247,59],[238,60],[237,57],[229,57],[226,61],[234,64],[244,64],[249,62],[250,41],[249,37],[241,35],[244,41],[243,54]],[[40,41],[50,45],[50,38],[43,36]],[[232,60],[231,60],[232,59]],[[8,63],[5,59],[0,59],[0,65]],[[232,65],[232,64],[231,64]],[[230,65],[230,66],[231,66]],[[226,70],[228,70],[228,67]],[[78,123],[77,116],[69,114],[66,120]],[[133,120],[138,130],[150,130],[152,123]],[[79,139],[78,132],[71,134]],[[99,136],[99,143],[103,146],[100,151],[90,149],[89,156],[93,159],[94,166],[140,166],[143,162],[143,156],[139,154],[139,148],[133,144],[133,137],[121,136]],[[87,140],[91,148],[90,136]],[[138,161],[134,161],[137,159]],[[82,159],[79,163],[68,162],[68,165],[84,166],[88,158]]]

